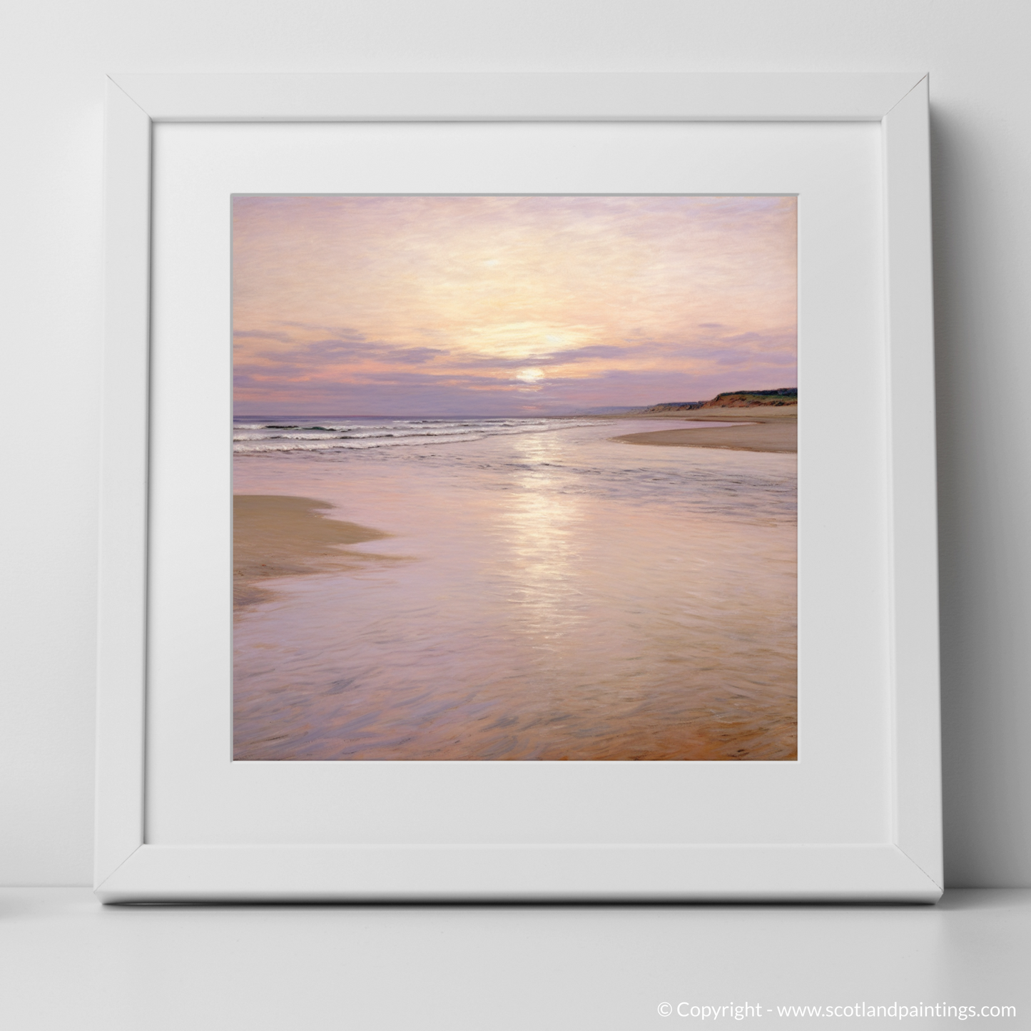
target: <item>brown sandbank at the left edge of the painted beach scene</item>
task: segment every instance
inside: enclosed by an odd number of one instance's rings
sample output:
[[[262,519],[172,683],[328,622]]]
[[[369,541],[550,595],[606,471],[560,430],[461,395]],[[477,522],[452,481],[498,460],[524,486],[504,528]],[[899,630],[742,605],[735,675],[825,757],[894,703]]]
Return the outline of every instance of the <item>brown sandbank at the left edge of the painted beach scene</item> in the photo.
[[[315,498],[278,494],[233,496],[233,608],[266,601],[265,580],[346,569],[383,560],[346,545],[391,536],[381,530],[327,519],[333,506]]]

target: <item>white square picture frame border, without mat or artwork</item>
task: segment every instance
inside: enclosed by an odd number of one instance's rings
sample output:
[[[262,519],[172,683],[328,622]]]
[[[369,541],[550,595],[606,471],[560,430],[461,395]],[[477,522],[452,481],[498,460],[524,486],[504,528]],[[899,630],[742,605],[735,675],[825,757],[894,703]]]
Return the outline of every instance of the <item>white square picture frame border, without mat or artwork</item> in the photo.
[[[867,122],[886,269],[891,747],[883,840],[146,840],[152,139],[163,122]],[[95,891],[104,902],[892,900],[941,894],[928,84],[891,74],[127,74],[106,117]],[[227,686],[228,691],[228,686]]]

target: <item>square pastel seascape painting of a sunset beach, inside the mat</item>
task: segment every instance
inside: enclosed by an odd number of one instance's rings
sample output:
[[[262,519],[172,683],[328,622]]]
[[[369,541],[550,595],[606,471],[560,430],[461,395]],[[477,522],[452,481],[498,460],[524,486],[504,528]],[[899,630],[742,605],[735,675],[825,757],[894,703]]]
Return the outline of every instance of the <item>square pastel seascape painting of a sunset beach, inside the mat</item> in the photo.
[[[795,759],[796,208],[234,197],[234,758]]]

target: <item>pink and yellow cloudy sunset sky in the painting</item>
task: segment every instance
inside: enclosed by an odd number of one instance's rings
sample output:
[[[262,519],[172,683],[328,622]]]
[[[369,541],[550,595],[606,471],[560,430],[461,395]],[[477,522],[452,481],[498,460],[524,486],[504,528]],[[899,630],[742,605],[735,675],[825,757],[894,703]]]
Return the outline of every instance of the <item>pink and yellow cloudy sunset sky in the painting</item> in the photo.
[[[534,415],[793,387],[795,298],[794,197],[235,197],[235,407]]]

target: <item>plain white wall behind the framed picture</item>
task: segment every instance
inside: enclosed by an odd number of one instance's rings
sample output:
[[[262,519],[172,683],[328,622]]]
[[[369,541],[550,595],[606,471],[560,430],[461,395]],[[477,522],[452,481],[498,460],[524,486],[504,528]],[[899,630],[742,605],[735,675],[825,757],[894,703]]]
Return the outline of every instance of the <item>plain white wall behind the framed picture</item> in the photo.
[[[90,879],[105,72],[927,70],[947,878],[1031,886],[1031,6],[16,0],[2,24],[0,884]]]

